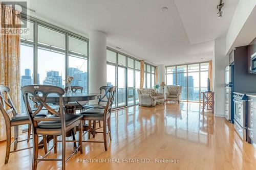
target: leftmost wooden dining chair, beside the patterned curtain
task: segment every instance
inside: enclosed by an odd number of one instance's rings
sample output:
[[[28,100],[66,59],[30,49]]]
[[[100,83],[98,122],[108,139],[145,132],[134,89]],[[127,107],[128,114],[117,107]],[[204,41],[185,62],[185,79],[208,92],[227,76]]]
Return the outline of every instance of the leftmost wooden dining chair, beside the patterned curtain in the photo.
[[[30,126],[28,126],[28,137],[24,140],[18,140],[18,127],[22,125],[30,125],[29,116],[28,114],[18,114],[14,104],[9,95],[10,89],[7,86],[0,85],[0,111],[3,114],[6,126],[6,154],[5,154],[5,164],[9,161],[10,153],[23,151],[26,149],[30,149],[32,147],[18,149],[17,145],[19,142],[28,141],[30,138]],[[12,113],[11,118],[9,114]],[[40,111],[38,116],[46,117],[47,111]],[[14,141],[11,142],[11,127],[14,127]],[[44,140],[46,136],[44,136]],[[14,144],[13,151],[11,151],[11,146]],[[44,143],[45,152],[47,153],[47,145]]]

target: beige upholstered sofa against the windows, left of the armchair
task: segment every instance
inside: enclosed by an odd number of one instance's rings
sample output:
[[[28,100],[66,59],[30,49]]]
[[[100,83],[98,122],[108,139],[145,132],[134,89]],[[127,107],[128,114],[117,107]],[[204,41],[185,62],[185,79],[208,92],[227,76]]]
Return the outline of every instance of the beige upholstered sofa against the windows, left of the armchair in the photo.
[[[156,92],[155,89],[137,89],[139,96],[139,105],[140,106],[156,106],[159,103],[164,102],[163,93]]]

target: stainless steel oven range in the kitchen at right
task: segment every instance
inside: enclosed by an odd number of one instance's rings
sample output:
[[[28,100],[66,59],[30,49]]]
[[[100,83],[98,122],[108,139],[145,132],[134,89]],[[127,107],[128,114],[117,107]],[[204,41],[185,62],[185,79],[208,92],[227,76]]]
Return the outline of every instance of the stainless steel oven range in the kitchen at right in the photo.
[[[243,93],[234,92],[234,129],[243,140],[247,140],[246,104],[247,96]]]

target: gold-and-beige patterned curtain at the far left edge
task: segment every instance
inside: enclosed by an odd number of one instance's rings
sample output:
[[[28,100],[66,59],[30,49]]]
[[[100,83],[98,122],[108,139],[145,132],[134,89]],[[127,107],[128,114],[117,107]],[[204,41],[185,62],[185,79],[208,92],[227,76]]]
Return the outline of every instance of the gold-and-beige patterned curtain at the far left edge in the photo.
[[[13,23],[20,23],[15,16],[18,12],[10,7],[0,4],[0,27],[9,29],[7,25],[18,29],[19,26]],[[0,32],[0,85],[10,88],[11,99],[20,113],[20,35],[3,34]],[[0,113],[0,140],[6,139],[5,121],[2,113]]]

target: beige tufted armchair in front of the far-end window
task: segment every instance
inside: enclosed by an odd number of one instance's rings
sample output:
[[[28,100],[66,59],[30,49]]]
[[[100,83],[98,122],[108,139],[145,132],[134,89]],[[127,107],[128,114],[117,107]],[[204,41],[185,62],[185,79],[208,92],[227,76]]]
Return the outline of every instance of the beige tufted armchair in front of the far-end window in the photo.
[[[180,103],[182,86],[167,86],[166,101],[174,101]]]

